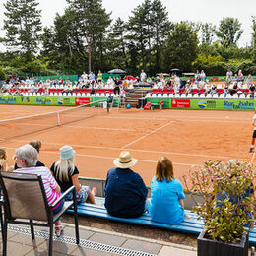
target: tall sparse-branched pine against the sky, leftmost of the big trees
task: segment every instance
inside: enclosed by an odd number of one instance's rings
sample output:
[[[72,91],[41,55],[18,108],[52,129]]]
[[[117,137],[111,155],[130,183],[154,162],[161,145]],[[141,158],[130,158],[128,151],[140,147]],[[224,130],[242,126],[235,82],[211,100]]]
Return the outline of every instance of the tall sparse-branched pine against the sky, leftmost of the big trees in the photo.
[[[35,0],[8,0],[5,4],[5,43],[11,51],[25,53],[27,58],[38,50],[41,11]]]

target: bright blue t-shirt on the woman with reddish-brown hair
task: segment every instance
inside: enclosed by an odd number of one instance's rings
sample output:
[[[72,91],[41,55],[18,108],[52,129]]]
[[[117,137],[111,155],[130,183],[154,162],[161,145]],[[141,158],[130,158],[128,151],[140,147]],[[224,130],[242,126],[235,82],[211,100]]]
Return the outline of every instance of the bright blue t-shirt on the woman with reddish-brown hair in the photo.
[[[185,194],[181,183],[173,179],[169,182],[164,178],[151,183],[151,203],[148,207],[152,221],[162,224],[179,224],[184,221],[185,212],[178,199],[184,199]]]

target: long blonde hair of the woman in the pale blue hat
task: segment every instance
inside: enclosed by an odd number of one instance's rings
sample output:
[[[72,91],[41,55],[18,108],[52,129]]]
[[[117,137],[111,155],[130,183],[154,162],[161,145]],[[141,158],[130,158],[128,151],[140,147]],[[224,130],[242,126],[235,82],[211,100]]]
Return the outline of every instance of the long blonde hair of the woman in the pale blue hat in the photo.
[[[75,160],[74,158],[68,160],[58,160],[54,165],[56,178],[60,181],[68,181],[69,174],[72,176],[75,170]]]

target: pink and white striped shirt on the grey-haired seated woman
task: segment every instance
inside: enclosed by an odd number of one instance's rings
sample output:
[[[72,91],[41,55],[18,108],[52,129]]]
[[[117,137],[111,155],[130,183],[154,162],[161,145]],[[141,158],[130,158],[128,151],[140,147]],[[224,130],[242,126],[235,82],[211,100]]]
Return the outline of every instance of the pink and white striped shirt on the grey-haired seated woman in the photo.
[[[54,190],[58,186],[58,184],[47,167],[19,168],[16,169],[14,172],[41,175],[42,183],[49,205],[52,205],[61,196],[61,194],[56,193],[56,191]],[[57,204],[53,208],[53,210],[57,208],[59,204]]]

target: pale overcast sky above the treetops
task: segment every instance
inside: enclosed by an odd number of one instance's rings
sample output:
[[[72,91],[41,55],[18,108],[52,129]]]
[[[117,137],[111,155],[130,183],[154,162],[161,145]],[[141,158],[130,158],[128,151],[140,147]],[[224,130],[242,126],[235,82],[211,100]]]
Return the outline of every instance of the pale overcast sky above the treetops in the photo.
[[[53,25],[56,13],[63,14],[67,6],[66,0],[37,0],[42,10],[43,26]],[[3,19],[4,7],[0,1],[0,36],[4,36]],[[111,18],[120,17],[127,21],[131,11],[144,0],[102,0],[103,7]],[[171,22],[193,21],[219,25],[225,17],[234,17],[242,24],[243,34],[239,46],[250,44],[252,33],[251,16],[256,16],[256,0],[161,0],[166,7]]]

